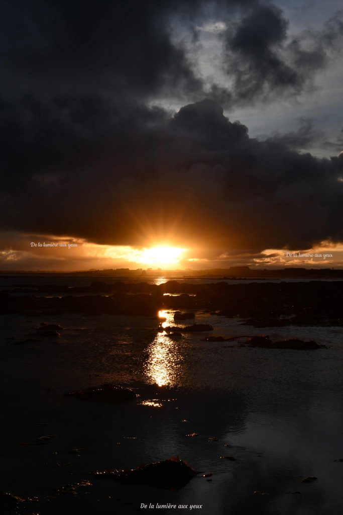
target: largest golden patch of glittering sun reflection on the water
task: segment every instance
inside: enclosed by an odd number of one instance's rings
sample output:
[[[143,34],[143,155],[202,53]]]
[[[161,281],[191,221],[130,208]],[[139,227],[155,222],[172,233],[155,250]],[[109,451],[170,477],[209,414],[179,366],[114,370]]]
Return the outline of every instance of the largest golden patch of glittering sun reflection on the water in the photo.
[[[171,386],[177,383],[181,361],[178,345],[166,334],[158,334],[148,348],[144,370],[158,386]]]

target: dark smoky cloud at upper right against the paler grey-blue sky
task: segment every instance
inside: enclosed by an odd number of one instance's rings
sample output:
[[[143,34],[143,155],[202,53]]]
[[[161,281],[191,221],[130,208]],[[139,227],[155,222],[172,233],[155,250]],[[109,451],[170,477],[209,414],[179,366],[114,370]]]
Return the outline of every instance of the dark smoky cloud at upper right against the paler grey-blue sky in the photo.
[[[228,22],[223,41],[231,104],[249,105],[313,88],[315,73],[341,50],[343,11],[321,31],[306,30],[290,39],[287,29],[282,11],[269,2],[255,3],[242,18]],[[225,100],[222,89],[214,86],[215,93]]]

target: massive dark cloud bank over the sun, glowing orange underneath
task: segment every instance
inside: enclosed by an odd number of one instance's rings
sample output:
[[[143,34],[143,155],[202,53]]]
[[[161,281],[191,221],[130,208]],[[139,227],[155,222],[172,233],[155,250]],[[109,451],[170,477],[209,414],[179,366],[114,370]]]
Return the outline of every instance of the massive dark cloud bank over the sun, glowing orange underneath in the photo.
[[[5,6],[3,229],[256,251],[342,239],[342,160],[294,150],[316,133],[308,122],[297,133],[257,141],[213,99],[184,102],[174,116],[152,107],[170,92],[202,95],[205,85],[175,43],[171,18],[195,25],[204,5]],[[285,61],[287,23],[279,9],[257,1],[216,6],[236,22],[225,35],[233,88],[214,84],[212,96],[254,102],[304,87],[310,72]],[[334,46],[339,23],[325,30],[323,44]],[[299,48],[293,45],[294,55]]]

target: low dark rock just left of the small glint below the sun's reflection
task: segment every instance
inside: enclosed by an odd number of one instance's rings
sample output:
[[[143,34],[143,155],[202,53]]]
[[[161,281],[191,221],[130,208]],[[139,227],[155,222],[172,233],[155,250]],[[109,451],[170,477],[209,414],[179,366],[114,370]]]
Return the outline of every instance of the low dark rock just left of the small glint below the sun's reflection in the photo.
[[[80,401],[111,403],[134,401],[136,399],[136,393],[133,390],[112,383],[91,386],[84,390],[70,392],[67,393],[67,396],[75,397]]]

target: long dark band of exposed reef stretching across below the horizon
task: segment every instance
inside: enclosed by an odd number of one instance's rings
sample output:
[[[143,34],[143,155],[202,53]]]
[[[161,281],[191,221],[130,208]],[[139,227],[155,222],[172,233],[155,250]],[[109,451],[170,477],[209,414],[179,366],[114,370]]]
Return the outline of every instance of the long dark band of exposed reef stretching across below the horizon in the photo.
[[[240,317],[243,323],[261,328],[343,325],[340,281],[241,284],[167,281],[160,285],[98,281],[89,286],[48,285],[29,289],[30,293],[23,291],[25,288],[0,291],[0,314],[154,317],[158,310],[170,309],[179,311],[175,320],[185,320],[193,318],[196,310],[203,310],[217,316]]]

